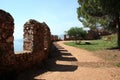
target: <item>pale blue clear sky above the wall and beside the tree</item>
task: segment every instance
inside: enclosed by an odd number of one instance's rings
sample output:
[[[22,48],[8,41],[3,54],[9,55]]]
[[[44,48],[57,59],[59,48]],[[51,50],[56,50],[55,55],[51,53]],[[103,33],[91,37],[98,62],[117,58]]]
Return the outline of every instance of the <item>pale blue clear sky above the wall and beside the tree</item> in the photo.
[[[23,38],[29,19],[45,22],[53,35],[63,35],[71,27],[82,27],[77,18],[77,0],[1,0],[0,9],[9,12],[15,23],[14,38]]]

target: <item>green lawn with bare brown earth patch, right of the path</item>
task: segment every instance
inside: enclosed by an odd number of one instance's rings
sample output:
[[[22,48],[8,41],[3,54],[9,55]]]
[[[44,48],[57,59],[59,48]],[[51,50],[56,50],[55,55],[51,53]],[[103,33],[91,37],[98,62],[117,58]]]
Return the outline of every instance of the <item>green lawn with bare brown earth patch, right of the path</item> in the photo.
[[[108,37],[111,39],[106,40]],[[80,44],[76,44],[75,41],[64,44],[92,51],[95,56],[105,61],[115,62],[113,65],[120,67],[120,50],[114,49],[117,47],[117,35],[104,36],[100,40],[90,40],[90,43],[85,44],[85,40],[83,40]]]

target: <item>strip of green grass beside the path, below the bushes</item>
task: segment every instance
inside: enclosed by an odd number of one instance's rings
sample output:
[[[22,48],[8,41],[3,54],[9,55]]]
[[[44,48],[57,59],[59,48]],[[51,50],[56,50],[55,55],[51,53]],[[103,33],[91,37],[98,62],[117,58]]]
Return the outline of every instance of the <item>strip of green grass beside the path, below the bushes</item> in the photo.
[[[82,41],[80,44],[76,44],[75,42],[65,42],[64,44],[86,49],[89,51],[97,51],[97,50],[104,50],[108,48],[115,48],[117,46],[117,36],[111,35],[111,39],[105,41],[104,39],[107,37],[108,36],[105,36],[100,40],[90,40],[91,44],[85,44],[85,41]]]

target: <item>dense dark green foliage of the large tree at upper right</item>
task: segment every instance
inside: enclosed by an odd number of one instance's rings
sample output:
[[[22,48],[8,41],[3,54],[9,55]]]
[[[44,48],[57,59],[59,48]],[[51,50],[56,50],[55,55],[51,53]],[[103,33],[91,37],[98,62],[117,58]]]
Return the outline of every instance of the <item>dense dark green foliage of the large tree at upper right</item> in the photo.
[[[78,3],[78,19],[85,27],[95,29],[100,24],[105,29],[115,31],[115,19],[120,16],[119,0],[78,0]],[[111,22],[115,25],[111,25]]]

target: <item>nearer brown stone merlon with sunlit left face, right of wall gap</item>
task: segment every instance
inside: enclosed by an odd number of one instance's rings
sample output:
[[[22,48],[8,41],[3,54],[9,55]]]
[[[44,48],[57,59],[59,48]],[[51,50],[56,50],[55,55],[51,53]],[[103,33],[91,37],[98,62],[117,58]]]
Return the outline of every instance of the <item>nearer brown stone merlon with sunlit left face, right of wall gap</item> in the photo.
[[[30,19],[24,24],[24,50],[39,52],[44,49],[44,26]],[[40,44],[41,43],[41,44]]]

